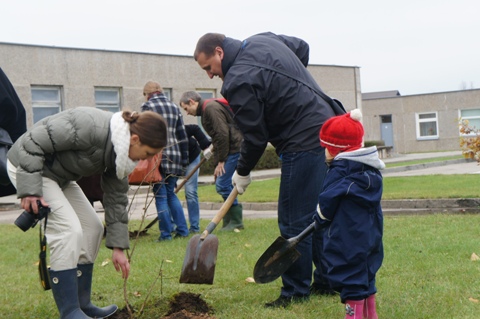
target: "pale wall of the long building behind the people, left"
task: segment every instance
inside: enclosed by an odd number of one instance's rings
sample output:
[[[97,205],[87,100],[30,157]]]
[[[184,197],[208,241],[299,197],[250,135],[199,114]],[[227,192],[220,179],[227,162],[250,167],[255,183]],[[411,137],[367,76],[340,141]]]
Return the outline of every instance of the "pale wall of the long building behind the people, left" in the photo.
[[[63,109],[95,106],[95,87],[121,88],[122,107],[139,110],[148,80],[172,90],[178,103],[183,92],[215,90],[222,81],[210,79],[191,56],[149,54],[23,45],[0,42],[0,66],[12,82],[32,125],[32,85],[63,88]],[[361,106],[357,67],[309,65],[309,71],[326,94],[340,99],[348,109]],[[185,123],[197,119],[185,116]]]

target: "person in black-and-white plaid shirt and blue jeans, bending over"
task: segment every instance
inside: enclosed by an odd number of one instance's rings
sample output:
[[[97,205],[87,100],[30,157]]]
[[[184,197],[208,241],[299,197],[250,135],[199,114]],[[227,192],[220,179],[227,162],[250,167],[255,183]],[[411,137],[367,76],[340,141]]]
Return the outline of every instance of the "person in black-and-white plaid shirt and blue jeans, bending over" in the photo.
[[[184,175],[188,165],[188,137],[183,116],[180,108],[165,96],[158,82],[148,81],[143,88],[143,95],[146,102],[142,105],[142,111],[157,112],[168,124],[168,145],[163,150],[160,165],[162,182],[153,185],[160,227],[158,241],[172,239],[172,219],[176,225],[175,238],[187,237],[187,221],[182,204],[175,194],[178,177]]]

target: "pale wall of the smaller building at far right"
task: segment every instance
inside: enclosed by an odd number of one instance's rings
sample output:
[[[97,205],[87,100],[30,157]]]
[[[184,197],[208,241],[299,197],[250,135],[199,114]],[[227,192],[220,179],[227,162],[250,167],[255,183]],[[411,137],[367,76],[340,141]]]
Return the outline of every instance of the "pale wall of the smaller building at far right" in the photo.
[[[379,98],[362,101],[365,140],[381,140],[381,115],[392,115],[396,153],[460,150],[460,110],[480,109],[480,90]],[[417,139],[416,114],[437,112],[438,138]]]

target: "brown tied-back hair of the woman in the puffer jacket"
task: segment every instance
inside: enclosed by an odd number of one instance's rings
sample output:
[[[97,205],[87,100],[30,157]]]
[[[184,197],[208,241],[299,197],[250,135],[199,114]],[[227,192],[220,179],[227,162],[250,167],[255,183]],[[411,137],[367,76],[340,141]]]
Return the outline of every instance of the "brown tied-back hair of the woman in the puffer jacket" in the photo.
[[[167,122],[160,114],[123,111],[122,117],[130,124],[130,133],[138,135],[140,143],[153,148],[167,146]]]

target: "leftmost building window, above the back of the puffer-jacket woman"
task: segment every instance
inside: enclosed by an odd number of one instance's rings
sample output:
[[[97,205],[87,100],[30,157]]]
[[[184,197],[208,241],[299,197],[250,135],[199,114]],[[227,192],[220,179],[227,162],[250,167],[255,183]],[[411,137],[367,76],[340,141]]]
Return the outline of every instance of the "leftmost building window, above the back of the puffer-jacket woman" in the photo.
[[[62,109],[61,88],[58,86],[32,86],[33,123],[57,114]]]

